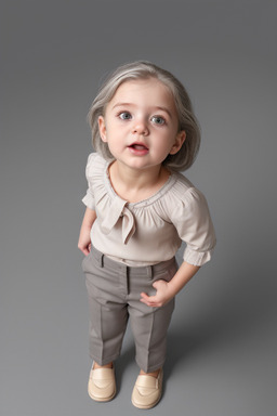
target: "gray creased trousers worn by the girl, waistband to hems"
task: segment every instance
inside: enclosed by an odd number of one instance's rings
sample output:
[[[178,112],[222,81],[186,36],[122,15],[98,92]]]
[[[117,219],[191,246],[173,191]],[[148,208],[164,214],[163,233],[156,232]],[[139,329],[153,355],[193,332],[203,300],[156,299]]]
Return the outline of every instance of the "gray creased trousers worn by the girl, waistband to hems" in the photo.
[[[82,261],[90,308],[90,355],[100,365],[116,360],[130,317],[136,363],[145,373],[166,360],[167,330],[174,299],[161,308],[140,301],[141,292],[155,295],[153,283],[169,282],[177,270],[175,258],[149,266],[128,266],[92,247]]]

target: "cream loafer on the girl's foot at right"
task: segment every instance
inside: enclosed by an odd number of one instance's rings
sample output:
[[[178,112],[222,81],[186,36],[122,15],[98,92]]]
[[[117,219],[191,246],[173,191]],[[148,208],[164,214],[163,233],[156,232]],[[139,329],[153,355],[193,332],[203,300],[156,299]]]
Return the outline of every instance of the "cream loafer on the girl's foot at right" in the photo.
[[[132,403],[138,408],[151,408],[161,398],[162,392],[162,369],[157,378],[147,375],[140,375],[134,385]]]

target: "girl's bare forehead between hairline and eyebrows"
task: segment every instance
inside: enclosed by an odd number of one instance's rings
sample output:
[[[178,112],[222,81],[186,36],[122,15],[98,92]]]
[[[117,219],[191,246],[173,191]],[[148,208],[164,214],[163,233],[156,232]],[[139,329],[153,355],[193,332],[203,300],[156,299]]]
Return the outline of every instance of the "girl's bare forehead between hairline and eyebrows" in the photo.
[[[172,92],[157,78],[133,79],[122,82],[116,90],[110,104],[147,102],[148,105],[166,105],[175,107]]]

